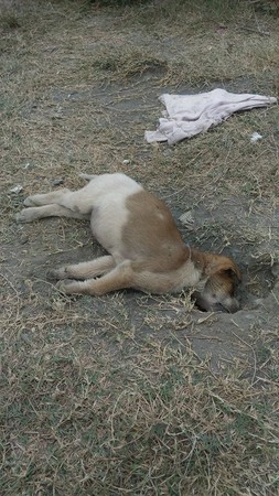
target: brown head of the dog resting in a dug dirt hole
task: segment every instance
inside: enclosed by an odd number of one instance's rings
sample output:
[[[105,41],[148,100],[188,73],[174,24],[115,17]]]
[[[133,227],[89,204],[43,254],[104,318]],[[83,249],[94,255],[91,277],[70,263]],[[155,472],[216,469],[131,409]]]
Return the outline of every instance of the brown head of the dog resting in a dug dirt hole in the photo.
[[[206,282],[201,292],[193,294],[196,305],[206,312],[234,313],[239,310],[235,291],[242,280],[238,267],[227,257],[206,254]]]

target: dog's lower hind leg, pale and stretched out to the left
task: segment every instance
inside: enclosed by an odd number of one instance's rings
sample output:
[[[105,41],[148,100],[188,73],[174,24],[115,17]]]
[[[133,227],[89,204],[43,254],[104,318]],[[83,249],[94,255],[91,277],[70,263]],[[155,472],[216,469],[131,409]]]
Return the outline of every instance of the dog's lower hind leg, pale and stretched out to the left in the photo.
[[[39,218],[44,217],[71,217],[78,218],[81,220],[89,220],[90,214],[81,214],[79,212],[73,212],[69,208],[65,208],[61,205],[51,204],[37,207],[23,208],[15,215],[17,223],[32,223]]]

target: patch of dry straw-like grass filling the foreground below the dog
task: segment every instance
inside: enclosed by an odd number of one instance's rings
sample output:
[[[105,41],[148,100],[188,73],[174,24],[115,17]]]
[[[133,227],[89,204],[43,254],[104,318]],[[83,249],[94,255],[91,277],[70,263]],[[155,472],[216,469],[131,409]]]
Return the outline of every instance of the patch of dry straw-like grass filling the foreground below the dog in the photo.
[[[3,494],[277,494],[278,382],[214,376],[169,343],[125,360],[83,346],[7,351]]]

